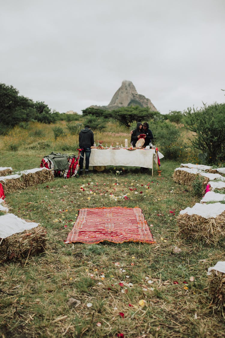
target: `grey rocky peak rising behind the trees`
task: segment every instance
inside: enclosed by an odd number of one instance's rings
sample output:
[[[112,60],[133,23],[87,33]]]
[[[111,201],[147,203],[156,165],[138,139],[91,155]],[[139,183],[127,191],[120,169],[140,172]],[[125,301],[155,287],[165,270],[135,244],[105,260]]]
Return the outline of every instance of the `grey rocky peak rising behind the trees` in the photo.
[[[131,81],[124,80],[122,81],[121,87],[115,92],[112,100],[107,106],[92,105],[91,107],[113,110],[119,107],[129,107],[136,105],[140,107],[149,107],[151,111],[158,112],[150,99],[146,98],[144,95],[138,94]]]

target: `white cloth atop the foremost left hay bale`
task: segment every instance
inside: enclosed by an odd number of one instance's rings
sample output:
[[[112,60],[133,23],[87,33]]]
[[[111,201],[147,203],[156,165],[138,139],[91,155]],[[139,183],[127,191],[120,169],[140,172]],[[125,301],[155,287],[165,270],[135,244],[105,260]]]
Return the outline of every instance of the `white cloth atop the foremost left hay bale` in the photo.
[[[0,216],[0,238],[6,238],[11,235],[30,230],[38,226],[38,223],[26,222],[14,214]]]

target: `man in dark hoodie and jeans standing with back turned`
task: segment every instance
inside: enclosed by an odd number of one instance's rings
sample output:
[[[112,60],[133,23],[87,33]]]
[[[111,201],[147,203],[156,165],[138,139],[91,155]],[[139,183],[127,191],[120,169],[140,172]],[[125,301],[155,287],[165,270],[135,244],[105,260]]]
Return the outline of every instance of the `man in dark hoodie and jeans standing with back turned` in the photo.
[[[90,129],[90,126],[87,124],[84,126],[84,129],[81,129],[79,132],[79,148],[80,151],[80,173],[83,173],[83,163],[84,163],[84,153],[85,153],[85,172],[88,172],[89,169],[89,158],[91,154],[91,146],[94,144],[94,134]]]

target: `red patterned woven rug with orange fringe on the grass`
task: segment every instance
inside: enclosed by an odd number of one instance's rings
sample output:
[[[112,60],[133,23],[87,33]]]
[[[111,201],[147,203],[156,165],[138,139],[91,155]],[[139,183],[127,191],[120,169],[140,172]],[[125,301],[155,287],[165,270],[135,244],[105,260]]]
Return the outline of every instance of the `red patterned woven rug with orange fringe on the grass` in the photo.
[[[140,208],[80,209],[65,243],[155,243]]]

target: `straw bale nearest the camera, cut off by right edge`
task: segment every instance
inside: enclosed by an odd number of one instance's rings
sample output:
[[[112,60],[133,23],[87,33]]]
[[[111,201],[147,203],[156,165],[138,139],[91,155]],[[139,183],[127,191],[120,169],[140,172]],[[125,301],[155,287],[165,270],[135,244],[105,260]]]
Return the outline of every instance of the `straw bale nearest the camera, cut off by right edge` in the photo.
[[[225,273],[218,271],[216,266],[224,264],[218,262],[215,267],[208,270],[208,295],[211,299],[211,305],[214,304],[217,311],[219,311],[225,318]]]

